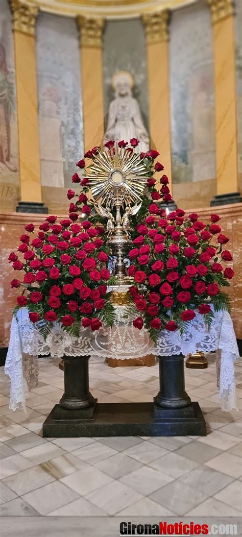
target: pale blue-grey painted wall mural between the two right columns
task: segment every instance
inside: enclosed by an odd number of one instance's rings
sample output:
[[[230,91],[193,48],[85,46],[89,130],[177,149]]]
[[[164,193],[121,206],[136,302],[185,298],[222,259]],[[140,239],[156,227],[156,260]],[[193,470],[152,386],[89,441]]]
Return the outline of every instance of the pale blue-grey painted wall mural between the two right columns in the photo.
[[[212,35],[202,2],[172,14],[170,103],[173,184],[214,178]]]

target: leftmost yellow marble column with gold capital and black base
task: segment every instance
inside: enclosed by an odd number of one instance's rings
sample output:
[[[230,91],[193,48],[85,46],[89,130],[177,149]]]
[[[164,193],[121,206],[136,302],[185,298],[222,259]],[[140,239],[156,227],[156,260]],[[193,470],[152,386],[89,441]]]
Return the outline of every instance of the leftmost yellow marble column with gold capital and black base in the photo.
[[[10,0],[14,41],[19,144],[20,213],[47,213],[41,200],[35,20],[38,8]]]

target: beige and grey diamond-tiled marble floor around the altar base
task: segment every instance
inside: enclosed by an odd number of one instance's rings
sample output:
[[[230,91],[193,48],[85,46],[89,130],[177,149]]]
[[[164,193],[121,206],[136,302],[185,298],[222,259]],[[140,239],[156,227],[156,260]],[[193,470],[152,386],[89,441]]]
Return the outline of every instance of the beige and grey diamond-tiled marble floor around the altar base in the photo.
[[[214,355],[205,370],[186,369],[186,388],[203,410],[208,436],[43,439],[41,426],[60,400],[58,361],[39,360],[39,386],[27,415],[10,412],[0,369],[0,514],[2,516],[239,516],[241,413],[219,408]],[[241,408],[242,360],[236,364]],[[109,368],[90,362],[99,402],[151,401],[158,366]]]

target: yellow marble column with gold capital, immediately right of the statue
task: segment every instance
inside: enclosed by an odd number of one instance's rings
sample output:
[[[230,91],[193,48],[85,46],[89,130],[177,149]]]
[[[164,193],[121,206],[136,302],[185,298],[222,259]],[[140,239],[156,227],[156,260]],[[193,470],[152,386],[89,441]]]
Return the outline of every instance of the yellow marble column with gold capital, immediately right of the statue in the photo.
[[[159,151],[160,161],[171,180],[170,105],[168,76],[168,10],[142,16],[146,36],[150,146]]]

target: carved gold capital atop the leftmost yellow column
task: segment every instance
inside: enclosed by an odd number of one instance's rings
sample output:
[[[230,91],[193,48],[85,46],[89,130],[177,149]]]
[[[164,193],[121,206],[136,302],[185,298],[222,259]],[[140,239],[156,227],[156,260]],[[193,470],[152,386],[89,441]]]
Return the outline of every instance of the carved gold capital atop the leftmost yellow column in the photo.
[[[34,35],[38,7],[33,4],[25,4],[21,0],[10,0],[10,6],[13,30],[27,35]]]

